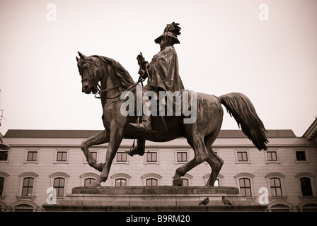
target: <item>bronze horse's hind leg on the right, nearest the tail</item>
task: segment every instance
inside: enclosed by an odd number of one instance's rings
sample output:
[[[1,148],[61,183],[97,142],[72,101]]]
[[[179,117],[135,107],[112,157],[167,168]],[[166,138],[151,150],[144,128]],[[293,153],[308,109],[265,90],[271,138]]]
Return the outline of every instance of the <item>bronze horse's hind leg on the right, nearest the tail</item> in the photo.
[[[206,186],[214,186],[214,182],[216,182],[220,169],[222,165],[224,165],[224,160],[222,160],[221,157],[219,157],[216,153],[214,153],[214,150],[212,150],[212,143],[214,143],[214,140],[217,138],[217,136],[218,133],[212,133],[205,138],[205,144],[207,146],[207,150],[209,151],[209,158],[207,159],[207,162],[209,163],[210,167],[212,167],[212,173],[210,174]]]

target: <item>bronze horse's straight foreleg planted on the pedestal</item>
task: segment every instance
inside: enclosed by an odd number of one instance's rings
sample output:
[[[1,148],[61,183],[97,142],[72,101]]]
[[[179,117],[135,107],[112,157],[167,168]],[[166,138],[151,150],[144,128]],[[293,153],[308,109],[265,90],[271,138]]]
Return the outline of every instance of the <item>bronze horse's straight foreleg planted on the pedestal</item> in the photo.
[[[111,164],[113,163],[113,158],[115,157],[115,154],[117,153],[117,149],[120,146],[120,143],[122,141],[122,128],[112,128],[110,132],[110,138],[109,138],[109,145],[107,154],[105,156],[105,164],[103,165],[103,170],[96,179],[96,182],[93,182],[91,186],[100,186],[101,182],[105,182],[108,179],[109,171]]]

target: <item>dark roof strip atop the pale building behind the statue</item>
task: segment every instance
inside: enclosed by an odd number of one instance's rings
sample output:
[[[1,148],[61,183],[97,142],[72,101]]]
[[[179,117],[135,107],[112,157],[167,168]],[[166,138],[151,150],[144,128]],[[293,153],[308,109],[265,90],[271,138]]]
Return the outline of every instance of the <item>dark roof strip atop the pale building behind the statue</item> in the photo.
[[[38,129],[9,129],[5,138],[87,138],[101,130],[38,130]],[[221,130],[219,138],[243,138],[246,135],[241,130]],[[267,130],[267,138],[296,137],[292,129]]]

